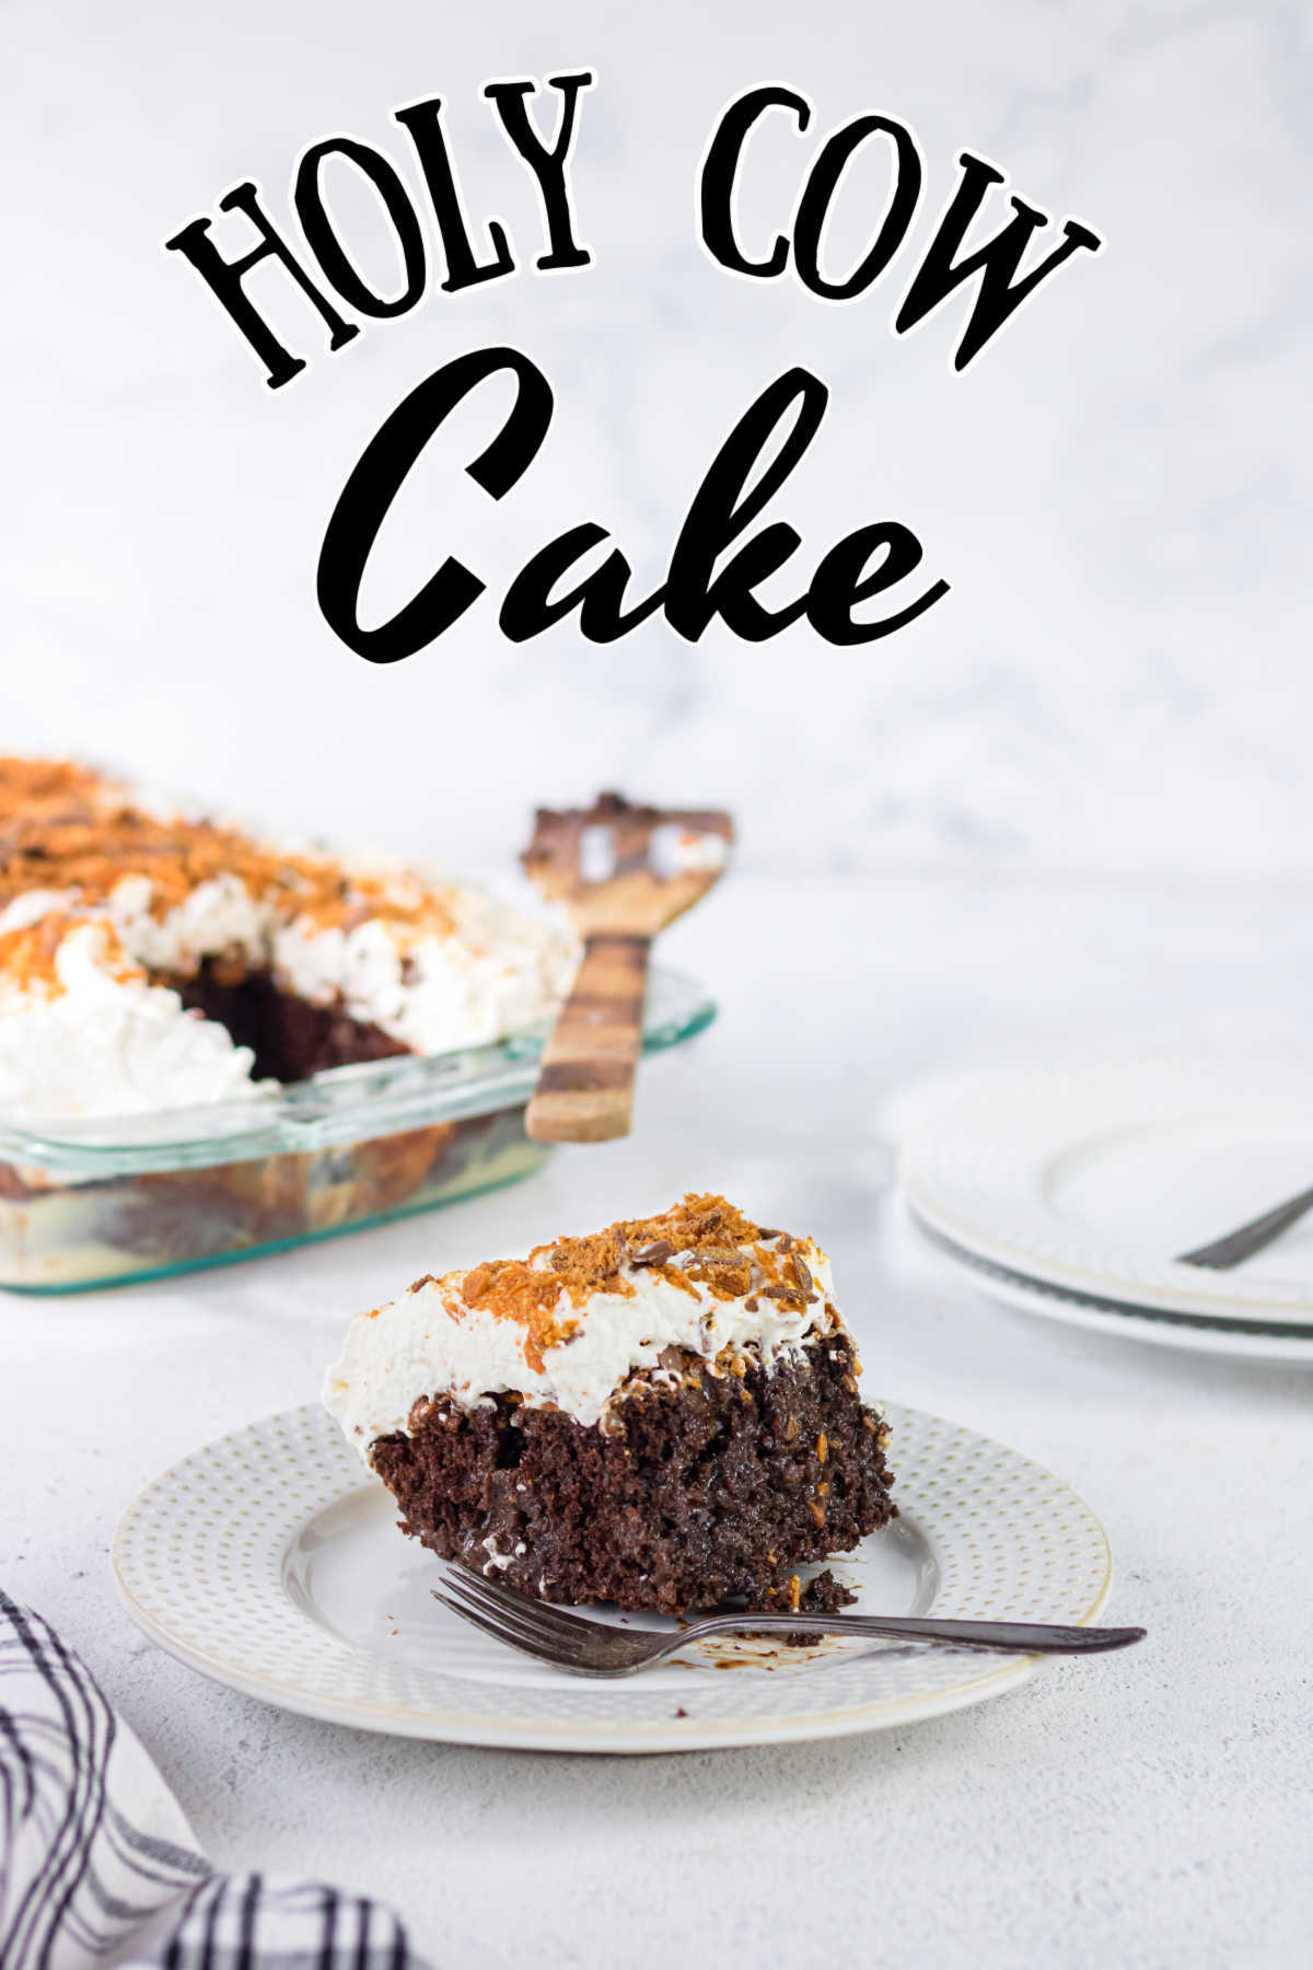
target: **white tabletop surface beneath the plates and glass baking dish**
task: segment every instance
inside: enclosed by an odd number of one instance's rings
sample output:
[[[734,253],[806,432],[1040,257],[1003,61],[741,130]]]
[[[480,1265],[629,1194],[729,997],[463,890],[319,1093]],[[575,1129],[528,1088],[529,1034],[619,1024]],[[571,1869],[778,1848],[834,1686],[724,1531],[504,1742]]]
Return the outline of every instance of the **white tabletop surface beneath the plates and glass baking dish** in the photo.
[[[652,1064],[628,1143],[301,1255],[2,1298],[0,1580],[85,1651],[220,1864],[390,1897],[435,1964],[1305,1962],[1313,1377],[943,1279],[900,1231],[874,1117],[907,1076],[1028,1036],[1299,1034],[1313,892],[744,879],[669,955],[724,1015]],[[348,1312],[687,1184],[829,1245],[876,1391],[1081,1489],[1114,1546],[1110,1615],[1148,1645],[919,1728],[626,1761],[317,1726],[138,1635],[108,1580],[118,1513],[201,1440],[311,1397]]]

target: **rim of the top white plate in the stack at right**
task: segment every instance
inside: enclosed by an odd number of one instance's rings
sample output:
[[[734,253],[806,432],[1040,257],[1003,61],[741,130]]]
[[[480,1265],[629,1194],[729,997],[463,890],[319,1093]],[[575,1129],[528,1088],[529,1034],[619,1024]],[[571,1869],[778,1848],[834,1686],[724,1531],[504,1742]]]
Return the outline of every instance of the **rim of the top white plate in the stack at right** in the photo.
[[[1266,1056],[1262,1058],[1266,1060]],[[982,1076],[957,1099],[949,1101],[931,1119],[921,1123],[921,1127],[913,1129],[900,1145],[896,1162],[898,1190],[911,1214],[941,1237],[957,1245],[969,1261],[974,1259],[982,1265],[1000,1267],[1022,1280],[1033,1282],[1035,1286],[1065,1290],[1087,1300],[1120,1300],[1144,1316],[1179,1314],[1193,1316],[1199,1322],[1228,1322],[1240,1328],[1289,1328],[1295,1338],[1303,1338],[1299,1336],[1299,1330],[1313,1326],[1313,1284],[1305,1288],[1303,1302],[1291,1304],[1291,1300],[1282,1302],[1280,1298],[1260,1300],[1258,1294],[1262,1284],[1258,1280],[1248,1282],[1250,1290],[1244,1294],[1234,1290],[1213,1290],[1209,1280],[1217,1275],[1191,1267],[1177,1267],[1171,1259],[1163,1259],[1161,1267],[1173,1267],[1173,1271],[1185,1275],[1171,1282],[1159,1280],[1156,1284],[1150,1279],[1134,1277],[1130,1269],[1098,1271],[1079,1259],[1063,1259],[1051,1249],[1018,1243],[1016,1237],[1006,1233],[1000,1235],[982,1227],[974,1219],[961,1217],[955,1204],[945,1204],[941,1196],[943,1182],[937,1180],[933,1170],[925,1170],[925,1158],[931,1152],[937,1156],[945,1152],[945,1139],[955,1135],[965,1115],[978,1113],[980,1105],[1002,1099],[1004,1080],[1012,1082],[1014,1091],[1026,1089],[1030,1093],[1041,1084],[1053,1082],[1061,1076],[1106,1076],[1110,1066],[1138,1072],[1161,1074],[1163,1070],[1171,1070],[1173,1074],[1181,1074],[1187,1066],[1199,1072],[1205,1066],[1217,1070],[1222,1064],[1230,1064],[1234,1068],[1246,1066],[1246,1060],[1240,1056],[1209,1054],[1205,1050],[1173,1050],[1159,1056],[1136,1052],[1100,1056],[1098,1052],[1079,1052],[1065,1054],[1061,1058],[1053,1056],[1041,1064],[1020,1064],[1016,1074],[1010,1076],[1004,1076],[1002,1072],[988,1078]],[[1248,1064],[1256,1066],[1258,1062],[1254,1060]],[[1305,1056],[1305,1066],[1307,1064]],[[1075,1141],[1079,1139],[1073,1135],[1073,1143]]]

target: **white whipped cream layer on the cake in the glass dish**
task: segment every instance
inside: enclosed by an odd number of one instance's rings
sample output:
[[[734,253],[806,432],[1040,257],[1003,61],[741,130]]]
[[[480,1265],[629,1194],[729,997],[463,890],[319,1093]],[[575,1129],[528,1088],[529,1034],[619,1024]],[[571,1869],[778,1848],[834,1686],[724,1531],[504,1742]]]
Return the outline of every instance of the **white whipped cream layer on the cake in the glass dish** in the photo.
[[[400,902],[425,894],[413,873],[388,873]],[[350,930],[309,916],[285,922],[285,902],[252,896],[238,875],[199,883],[161,918],[152,914],[148,875],[122,877],[104,906],[85,912],[77,892],[28,890],[0,910],[0,934],[59,914],[85,922],[63,940],[57,997],[16,995],[0,977],[0,1111],[142,1113],[252,1091],[250,1050],[167,987],[112,977],[114,944],[130,965],[179,977],[205,957],[238,953],[270,965],[285,991],[311,1005],[341,1003],[415,1054],[484,1046],[549,1018],[569,991],[577,944],[474,888],[443,888],[441,902],[455,920],[449,934],[415,932],[386,914]]]

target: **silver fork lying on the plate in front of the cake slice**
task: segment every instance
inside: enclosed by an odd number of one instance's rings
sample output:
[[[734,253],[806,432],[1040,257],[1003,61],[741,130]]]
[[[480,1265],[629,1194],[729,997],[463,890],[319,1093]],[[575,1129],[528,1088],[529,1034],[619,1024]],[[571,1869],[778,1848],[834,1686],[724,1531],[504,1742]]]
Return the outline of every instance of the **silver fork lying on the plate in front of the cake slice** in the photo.
[[[530,1600],[465,1566],[439,1562],[443,1586],[431,1588],[451,1613],[571,1676],[632,1676],[687,1649],[703,1635],[878,1635],[886,1641],[939,1641],[955,1649],[1000,1649],[1012,1655],[1100,1655],[1144,1641],[1142,1627],[1047,1627],[1035,1621],[941,1621],[929,1615],[870,1613],[713,1613],[677,1635],[606,1627],[549,1602]]]

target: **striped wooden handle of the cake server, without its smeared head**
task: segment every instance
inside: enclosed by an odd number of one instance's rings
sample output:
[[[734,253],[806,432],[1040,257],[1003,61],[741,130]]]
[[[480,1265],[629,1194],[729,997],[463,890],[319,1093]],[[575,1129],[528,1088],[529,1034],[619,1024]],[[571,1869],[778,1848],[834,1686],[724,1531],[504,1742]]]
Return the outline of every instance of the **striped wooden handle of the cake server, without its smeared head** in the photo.
[[[610,1143],[634,1121],[652,938],[585,940],[575,987],[543,1048],[526,1127],[535,1143]]]

